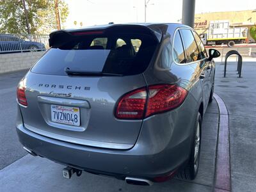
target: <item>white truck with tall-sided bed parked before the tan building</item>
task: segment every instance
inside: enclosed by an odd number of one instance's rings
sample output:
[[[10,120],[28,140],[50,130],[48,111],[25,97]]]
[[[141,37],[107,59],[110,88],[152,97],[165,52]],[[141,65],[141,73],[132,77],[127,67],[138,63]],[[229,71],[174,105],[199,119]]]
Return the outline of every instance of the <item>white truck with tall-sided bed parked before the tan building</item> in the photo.
[[[230,28],[228,20],[211,20],[208,33],[200,34],[204,45],[227,44],[233,47],[235,44],[245,42],[248,28]]]

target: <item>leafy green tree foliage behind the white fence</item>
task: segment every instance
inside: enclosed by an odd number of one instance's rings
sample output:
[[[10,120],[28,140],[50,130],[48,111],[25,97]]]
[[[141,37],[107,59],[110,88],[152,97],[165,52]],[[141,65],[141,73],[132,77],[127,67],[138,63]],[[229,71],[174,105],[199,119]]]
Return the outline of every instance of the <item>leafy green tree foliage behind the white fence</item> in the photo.
[[[26,0],[31,33],[47,34],[57,29],[54,0]],[[61,23],[68,16],[68,6],[59,0]],[[28,33],[22,0],[0,1],[0,33]]]

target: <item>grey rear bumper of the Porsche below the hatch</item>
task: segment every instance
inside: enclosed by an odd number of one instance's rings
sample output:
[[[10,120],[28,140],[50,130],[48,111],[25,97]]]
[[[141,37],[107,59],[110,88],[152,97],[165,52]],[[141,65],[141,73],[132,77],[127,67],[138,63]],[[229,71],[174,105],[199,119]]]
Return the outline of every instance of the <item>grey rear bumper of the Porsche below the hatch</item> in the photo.
[[[138,150],[107,150],[103,148],[84,147],[73,143],[46,138],[28,131],[22,124],[17,125],[20,143],[56,163],[79,168],[86,172],[109,175],[118,179],[139,177],[154,180],[156,177],[168,175],[186,161],[188,154],[180,148],[188,146],[185,140],[179,146],[154,154],[140,155]],[[170,153],[173,154],[172,159]]]

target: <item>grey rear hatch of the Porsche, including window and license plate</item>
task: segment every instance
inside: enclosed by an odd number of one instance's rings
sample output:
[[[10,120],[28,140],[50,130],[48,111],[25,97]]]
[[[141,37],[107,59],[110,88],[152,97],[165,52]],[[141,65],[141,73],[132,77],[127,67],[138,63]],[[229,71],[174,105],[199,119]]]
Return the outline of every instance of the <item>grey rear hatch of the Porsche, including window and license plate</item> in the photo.
[[[20,82],[30,131],[93,147],[128,149],[142,120],[118,120],[115,108],[127,92],[146,86],[143,71],[159,43],[145,26],[57,31],[52,48]]]

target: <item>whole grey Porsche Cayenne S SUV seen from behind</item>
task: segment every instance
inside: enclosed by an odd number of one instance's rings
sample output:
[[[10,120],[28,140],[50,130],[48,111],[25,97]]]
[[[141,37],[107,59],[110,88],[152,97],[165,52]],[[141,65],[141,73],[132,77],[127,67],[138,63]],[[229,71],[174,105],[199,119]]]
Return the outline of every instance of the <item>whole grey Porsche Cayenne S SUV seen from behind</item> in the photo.
[[[195,179],[220,52],[208,56],[182,24],[61,30],[49,43],[17,87],[27,152],[67,165],[66,178],[83,170],[141,185]]]

